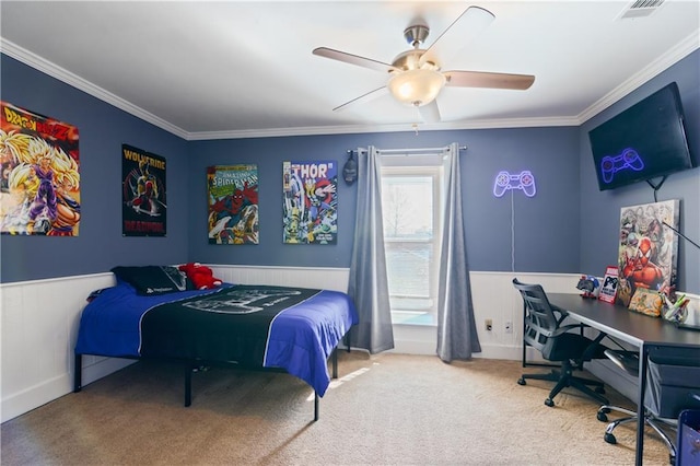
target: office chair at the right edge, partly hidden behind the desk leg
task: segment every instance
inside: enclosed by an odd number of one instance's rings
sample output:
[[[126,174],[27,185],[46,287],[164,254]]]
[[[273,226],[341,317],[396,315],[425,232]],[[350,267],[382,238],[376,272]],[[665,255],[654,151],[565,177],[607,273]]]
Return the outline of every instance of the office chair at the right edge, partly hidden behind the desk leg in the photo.
[[[618,368],[637,377],[639,375],[639,353],[626,350],[605,350]],[[700,409],[700,348],[652,347],[649,352],[649,370],[644,396],[644,424],[652,428],[666,444],[672,464],[676,458],[674,439],[677,435],[678,416],[684,409]],[[597,418],[607,422],[607,415],[618,411],[627,415],[616,419],[605,429],[603,439],[616,444],[612,431],[621,424],[639,420],[635,411],[604,404],[598,408]]]

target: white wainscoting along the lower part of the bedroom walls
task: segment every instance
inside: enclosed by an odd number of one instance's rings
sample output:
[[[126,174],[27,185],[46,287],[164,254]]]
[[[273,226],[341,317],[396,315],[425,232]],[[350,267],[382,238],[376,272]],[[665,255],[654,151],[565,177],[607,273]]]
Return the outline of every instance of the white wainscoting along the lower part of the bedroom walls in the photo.
[[[247,267],[211,265],[226,282],[326,288],[347,291],[348,269]],[[471,272],[476,324],[482,352],[479,358],[521,358],[522,301],[510,272]],[[551,292],[578,292],[578,275],[517,273],[526,282],[542,283]],[[114,276],[96,273],[0,284],[1,303],[1,421],[67,395],[73,388],[73,347],[85,298],[110,287]],[[486,331],[485,318],[493,321]],[[505,333],[505,322],[513,333]],[[396,352],[435,353],[435,327],[397,326]],[[536,354],[532,354],[536,358]],[[83,385],[130,364],[130,360],[83,358]],[[80,396],[80,395],[75,395]]]

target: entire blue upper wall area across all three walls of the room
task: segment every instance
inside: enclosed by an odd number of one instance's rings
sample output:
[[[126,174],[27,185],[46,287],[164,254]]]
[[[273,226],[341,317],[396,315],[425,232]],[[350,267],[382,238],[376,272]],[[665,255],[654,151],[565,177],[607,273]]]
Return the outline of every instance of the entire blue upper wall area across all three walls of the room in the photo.
[[[338,244],[282,244],[282,161],[336,160],[347,150],[435,148],[458,142],[471,270],[585,272],[602,275],[617,257],[620,207],[653,201],[646,184],[597,189],[588,129],[677,81],[696,153],[700,135],[700,77],[696,51],[581,128],[522,128],[334,135],[184,141],[95,97],[1,56],[2,100],[68,121],[80,129],[82,220],[74,238],[0,237],[0,281],[102,272],[115,265],[210,264],[348,267],[354,229],[355,186],[339,185]],[[167,236],[125,238],[120,226],[120,147],[129,143],[167,160]],[[206,167],[258,165],[260,244],[217,246],[207,242]],[[499,171],[530,170],[537,195],[492,194]],[[660,200],[682,199],[684,232],[700,241],[700,174],[672,175]],[[514,242],[514,251],[511,243]],[[680,245],[679,288],[700,293],[700,258]]]

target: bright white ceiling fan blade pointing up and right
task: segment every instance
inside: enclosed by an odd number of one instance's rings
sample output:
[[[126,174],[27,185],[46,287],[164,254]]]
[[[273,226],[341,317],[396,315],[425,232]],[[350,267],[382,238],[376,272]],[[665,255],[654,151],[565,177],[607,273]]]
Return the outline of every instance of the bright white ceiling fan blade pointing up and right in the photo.
[[[420,57],[420,65],[446,63],[468,43],[474,40],[495,19],[493,13],[479,7],[469,7],[457,18]]]

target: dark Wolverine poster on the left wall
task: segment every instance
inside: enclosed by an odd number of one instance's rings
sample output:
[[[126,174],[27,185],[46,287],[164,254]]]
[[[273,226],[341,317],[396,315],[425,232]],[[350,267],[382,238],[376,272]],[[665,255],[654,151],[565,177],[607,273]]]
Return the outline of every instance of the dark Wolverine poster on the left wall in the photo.
[[[121,144],[121,234],[165,236],[165,159]]]

